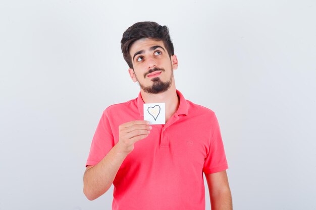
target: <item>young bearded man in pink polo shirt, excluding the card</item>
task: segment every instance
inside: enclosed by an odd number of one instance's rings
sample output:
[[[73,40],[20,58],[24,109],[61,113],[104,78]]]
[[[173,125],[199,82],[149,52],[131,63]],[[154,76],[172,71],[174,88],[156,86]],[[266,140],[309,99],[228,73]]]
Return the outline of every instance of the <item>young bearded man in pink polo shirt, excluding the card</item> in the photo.
[[[212,210],[232,209],[217,118],[176,90],[178,60],[168,28],[136,23],[121,44],[140,93],[104,110],[86,163],[84,194],[93,200],[113,183],[113,209],[205,209],[204,172]],[[165,103],[166,124],[143,120],[144,103]]]

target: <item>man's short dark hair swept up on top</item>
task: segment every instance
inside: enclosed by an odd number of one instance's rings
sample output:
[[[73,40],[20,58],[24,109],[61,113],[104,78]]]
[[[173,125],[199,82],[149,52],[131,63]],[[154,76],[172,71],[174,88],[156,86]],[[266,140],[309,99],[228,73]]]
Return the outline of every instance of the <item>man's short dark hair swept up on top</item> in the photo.
[[[150,38],[157,41],[163,41],[169,56],[174,55],[174,48],[169,35],[167,26],[161,26],[155,22],[138,22],[130,26],[124,33],[121,40],[121,49],[123,57],[130,68],[133,68],[132,57],[129,49],[132,44],[141,38]]]

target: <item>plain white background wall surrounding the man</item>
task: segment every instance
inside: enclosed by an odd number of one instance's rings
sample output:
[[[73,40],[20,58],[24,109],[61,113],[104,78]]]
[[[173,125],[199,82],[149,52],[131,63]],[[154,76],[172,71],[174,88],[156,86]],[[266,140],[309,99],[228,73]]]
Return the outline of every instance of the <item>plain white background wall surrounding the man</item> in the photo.
[[[234,209],[316,209],[313,0],[1,1],[0,209],[111,208],[82,177],[102,111],[138,95],[120,40],[145,20],[170,28],[177,89],[217,114]]]

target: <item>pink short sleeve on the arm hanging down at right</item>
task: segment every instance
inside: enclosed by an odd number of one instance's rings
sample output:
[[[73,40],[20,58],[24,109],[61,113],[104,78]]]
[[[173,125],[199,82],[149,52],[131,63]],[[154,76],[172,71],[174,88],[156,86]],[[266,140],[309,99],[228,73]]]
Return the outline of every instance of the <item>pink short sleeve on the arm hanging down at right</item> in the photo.
[[[228,169],[224,144],[220,131],[219,122],[214,114],[213,123],[210,127],[210,147],[204,161],[203,172],[205,174],[217,173]]]

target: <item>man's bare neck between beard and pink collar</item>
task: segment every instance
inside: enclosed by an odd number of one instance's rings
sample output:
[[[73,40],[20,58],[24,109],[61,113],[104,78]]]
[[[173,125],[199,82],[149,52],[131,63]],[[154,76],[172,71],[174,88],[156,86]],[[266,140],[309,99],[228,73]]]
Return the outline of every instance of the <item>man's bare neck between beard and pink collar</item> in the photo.
[[[144,103],[165,103],[166,122],[178,110],[180,101],[177,95],[176,87],[170,87],[166,92],[159,94],[149,94],[140,90]]]

